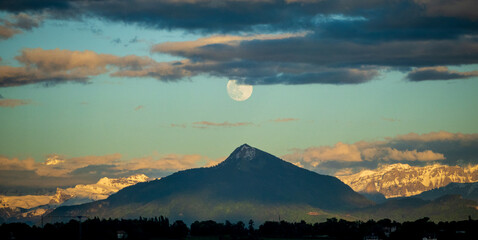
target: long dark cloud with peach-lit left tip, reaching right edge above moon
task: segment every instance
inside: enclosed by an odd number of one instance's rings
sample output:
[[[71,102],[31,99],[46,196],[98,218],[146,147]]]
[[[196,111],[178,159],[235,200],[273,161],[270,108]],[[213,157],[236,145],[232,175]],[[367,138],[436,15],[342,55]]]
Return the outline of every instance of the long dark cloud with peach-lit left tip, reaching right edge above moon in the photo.
[[[158,44],[153,50],[195,60],[233,61],[236,59],[302,63],[319,66],[359,67],[459,65],[478,62],[478,42],[474,40],[392,41],[361,43],[321,39],[317,34],[285,39],[244,40],[240,44],[212,43],[193,49]],[[178,44],[179,45],[179,44]]]

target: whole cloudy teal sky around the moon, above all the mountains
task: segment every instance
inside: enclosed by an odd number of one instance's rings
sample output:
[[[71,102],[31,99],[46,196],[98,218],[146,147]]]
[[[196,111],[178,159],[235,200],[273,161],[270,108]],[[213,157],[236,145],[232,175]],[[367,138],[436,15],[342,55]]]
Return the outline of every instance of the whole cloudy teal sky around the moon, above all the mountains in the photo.
[[[0,189],[243,143],[324,174],[478,163],[473,0],[0,3]],[[231,99],[229,80],[253,86]]]

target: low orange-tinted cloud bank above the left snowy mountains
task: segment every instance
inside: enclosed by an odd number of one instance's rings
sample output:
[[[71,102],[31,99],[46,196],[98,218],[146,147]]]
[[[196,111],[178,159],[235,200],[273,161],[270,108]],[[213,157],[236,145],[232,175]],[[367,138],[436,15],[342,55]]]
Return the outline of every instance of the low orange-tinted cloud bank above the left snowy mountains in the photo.
[[[119,153],[103,156],[66,157],[51,154],[44,162],[32,158],[0,156],[0,192],[12,188],[29,190],[94,183],[102,177],[125,177],[146,174],[163,177],[178,170],[211,166],[224,158],[210,159],[198,154],[166,154],[123,159]]]

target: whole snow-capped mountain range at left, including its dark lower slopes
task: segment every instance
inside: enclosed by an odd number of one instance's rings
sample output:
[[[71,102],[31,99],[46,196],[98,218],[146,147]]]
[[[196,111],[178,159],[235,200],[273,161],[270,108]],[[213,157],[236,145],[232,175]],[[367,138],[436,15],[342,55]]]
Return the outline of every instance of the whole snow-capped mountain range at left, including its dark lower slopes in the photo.
[[[145,182],[148,177],[137,174],[124,178],[101,178],[94,184],[79,184],[72,188],[57,188],[54,195],[0,195],[0,223],[10,220],[32,220],[58,206],[70,206],[106,199],[127,186]]]

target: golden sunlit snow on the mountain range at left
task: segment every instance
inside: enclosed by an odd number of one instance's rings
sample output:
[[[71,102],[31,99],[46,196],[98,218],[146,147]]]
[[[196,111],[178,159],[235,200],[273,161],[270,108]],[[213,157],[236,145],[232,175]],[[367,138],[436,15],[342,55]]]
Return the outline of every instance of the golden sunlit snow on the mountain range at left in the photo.
[[[72,188],[57,188],[55,195],[26,195],[2,196],[0,195],[0,208],[32,209],[44,205],[75,205],[108,198],[119,190],[139,182],[148,181],[144,174],[133,175],[125,178],[101,178],[94,184],[79,184]],[[32,214],[42,214],[43,210],[35,209]]]

